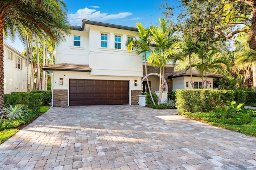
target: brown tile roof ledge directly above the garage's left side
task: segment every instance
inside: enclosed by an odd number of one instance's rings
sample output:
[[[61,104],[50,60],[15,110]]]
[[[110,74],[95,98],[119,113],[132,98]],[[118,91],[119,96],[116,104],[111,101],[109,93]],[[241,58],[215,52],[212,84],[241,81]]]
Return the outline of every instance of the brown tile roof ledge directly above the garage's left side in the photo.
[[[43,70],[91,70],[88,64],[49,64],[44,65]]]

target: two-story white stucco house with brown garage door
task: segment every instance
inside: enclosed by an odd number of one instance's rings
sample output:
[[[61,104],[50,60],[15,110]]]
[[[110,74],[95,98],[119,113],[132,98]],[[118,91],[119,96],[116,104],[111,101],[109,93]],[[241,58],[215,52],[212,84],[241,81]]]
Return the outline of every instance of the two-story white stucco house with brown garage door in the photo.
[[[82,20],[71,33],[56,46],[56,64],[43,68],[52,74],[53,106],[138,104],[138,95],[148,90],[145,64],[142,55],[126,47],[129,40],[139,39],[138,29]],[[159,68],[147,68],[150,89],[157,92]],[[172,92],[170,75],[173,64],[165,68],[166,98]]]

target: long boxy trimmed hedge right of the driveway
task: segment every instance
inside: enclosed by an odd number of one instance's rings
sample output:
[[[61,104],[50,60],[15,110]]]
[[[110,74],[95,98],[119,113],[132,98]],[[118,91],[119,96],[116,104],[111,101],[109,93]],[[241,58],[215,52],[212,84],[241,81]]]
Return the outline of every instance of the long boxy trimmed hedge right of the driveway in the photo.
[[[226,101],[246,105],[254,100],[256,92],[243,90],[176,90],[176,107],[179,113],[209,112],[215,110],[216,106],[226,106]]]

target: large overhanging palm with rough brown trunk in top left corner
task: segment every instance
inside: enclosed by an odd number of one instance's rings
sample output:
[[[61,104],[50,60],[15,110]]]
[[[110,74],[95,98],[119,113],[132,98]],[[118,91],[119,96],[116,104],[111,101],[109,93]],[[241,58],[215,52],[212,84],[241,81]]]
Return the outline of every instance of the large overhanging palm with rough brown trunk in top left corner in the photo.
[[[26,42],[22,32],[44,32],[56,41],[70,34],[67,8],[62,0],[1,0],[0,1],[0,107],[4,106],[4,47],[3,38],[16,35]]]

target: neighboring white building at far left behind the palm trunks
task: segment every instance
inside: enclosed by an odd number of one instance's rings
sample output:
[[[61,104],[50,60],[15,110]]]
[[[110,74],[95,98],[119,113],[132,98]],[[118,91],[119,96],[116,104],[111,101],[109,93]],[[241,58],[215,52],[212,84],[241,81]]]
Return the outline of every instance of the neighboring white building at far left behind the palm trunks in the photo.
[[[4,42],[4,94],[10,92],[27,92],[26,56]],[[28,80],[30,80],[30,64]]]

